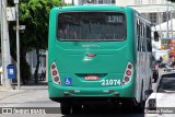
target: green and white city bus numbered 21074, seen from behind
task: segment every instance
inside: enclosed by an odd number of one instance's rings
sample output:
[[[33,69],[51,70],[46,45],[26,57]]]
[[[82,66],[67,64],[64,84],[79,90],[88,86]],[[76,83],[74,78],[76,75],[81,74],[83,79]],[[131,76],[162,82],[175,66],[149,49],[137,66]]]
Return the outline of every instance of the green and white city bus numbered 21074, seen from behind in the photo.
[[[73,5],[50,11],[49,98],[62,114],[86,102],[142,104],[151,89],[150,22],[128,7]]]

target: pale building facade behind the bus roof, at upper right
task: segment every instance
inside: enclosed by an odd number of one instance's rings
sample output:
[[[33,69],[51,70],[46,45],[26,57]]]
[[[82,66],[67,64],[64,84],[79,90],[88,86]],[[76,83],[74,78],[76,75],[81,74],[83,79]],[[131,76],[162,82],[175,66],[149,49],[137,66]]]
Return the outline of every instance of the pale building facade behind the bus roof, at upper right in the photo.
[[[175,5],[167,2],[167,0],[65,0],[65,2],[74,5],[82,5],[89,2],[94,4],[128,5],[144,14],[155,25],[175,17]]]

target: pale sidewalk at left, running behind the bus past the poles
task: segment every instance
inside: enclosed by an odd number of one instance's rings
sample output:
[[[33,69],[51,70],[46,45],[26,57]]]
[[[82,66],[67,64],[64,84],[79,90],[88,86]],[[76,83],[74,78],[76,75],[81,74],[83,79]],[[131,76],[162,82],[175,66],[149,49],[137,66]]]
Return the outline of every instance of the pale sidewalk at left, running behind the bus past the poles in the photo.
[[[0,101],[9,96],[28,92],[28,90],[47,90],[47,81],[38,81],[38,84],[35,84],[34,81],[31,80],[26,85],[21,85],[20,90],[18,90],[16,83],[13,83],[12,89],[5,89],[0,85]]]

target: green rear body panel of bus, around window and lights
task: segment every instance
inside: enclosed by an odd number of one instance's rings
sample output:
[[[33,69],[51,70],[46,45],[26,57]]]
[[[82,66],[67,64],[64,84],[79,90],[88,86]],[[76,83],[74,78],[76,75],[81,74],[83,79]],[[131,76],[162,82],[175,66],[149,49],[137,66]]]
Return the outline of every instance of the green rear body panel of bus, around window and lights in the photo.
[[[126,14],[127,22],[127,37],[121,42],[61,42],[56,35],[57,16],[58,13],[79,11],[116,11]],[[49,97],[137,97],[140,96],[141,73],[143,66],[137,69],[138,54],[136,40],[136,22],[133,19],[135,11],[130,8],[121,8],[115,5],[104,7],[66,7],[54,8],[50,12],[49,22],[49,52],[48,52],[48,90]],[[88,55],[95,55],[95,57],[88,57]],[[55,62],[61,85],[52,82],[50,66]],[[131,62],[133,66],[133,73],[131,82],[122,85],[124,74],[126,73],[127,63]],[[86,75],[97,75],[95,81],[85,80]],[[144,73],[143,73],[144,75]],[[66,80],[71,79],[71,84],[67,85]],[[145,78],[142,78],[145,79]],[[103,80],[120,80],[120,84],[102,85]],[[139,84],[138,84],[139,83]],[[73,93],[71,92],[73,90]],[[107,93],[106,91],[113,90]],[[139,100],[138,100],[139,102]]]

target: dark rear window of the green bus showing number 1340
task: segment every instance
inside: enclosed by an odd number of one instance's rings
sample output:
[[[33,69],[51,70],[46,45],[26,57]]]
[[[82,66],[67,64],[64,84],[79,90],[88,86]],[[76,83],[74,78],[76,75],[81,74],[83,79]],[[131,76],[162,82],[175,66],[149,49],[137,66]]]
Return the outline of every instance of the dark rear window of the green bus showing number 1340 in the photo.
[[[126,16],[119,12],[66,12],[58,14],[59,40],[124,40]]]

